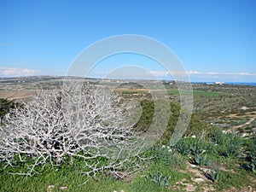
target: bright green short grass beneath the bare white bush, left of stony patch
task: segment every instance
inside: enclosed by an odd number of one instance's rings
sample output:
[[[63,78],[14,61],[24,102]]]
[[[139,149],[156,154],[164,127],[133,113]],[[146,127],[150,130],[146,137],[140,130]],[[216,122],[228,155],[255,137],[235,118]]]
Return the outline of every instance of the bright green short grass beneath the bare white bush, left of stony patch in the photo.
[[[3,168],[3,166],[1,167]],[[9,175],[8,170],[2,170],[0,175],[0,191],[46,191],[49,185],[54,185],[52,191],[61,191],[59,187],[65,186],[65,191],[90,191],[90,192],[113,192],[120,191],[168,191],[157,183],[148,179],[149,173],[162,172],[171,177],[170,183],[176,183],[183,177],[184,173],[177,172],[172,166],[156,160],[150,164],[148,169],[137,172],[131,181],[116,180],[104,173],[98,174],[96,179],[86,177],[79,173],[80,166],[63,165],[59,168],[49,167],[42,174],[33,177]],[[86,180],[88,182],[84,183]],[[82,185],[81,185],[82,184]]]

